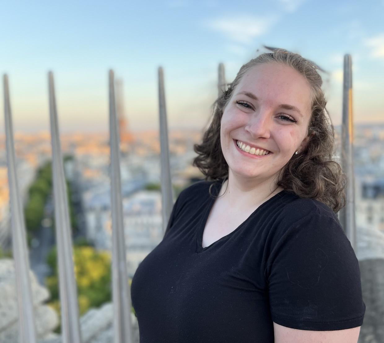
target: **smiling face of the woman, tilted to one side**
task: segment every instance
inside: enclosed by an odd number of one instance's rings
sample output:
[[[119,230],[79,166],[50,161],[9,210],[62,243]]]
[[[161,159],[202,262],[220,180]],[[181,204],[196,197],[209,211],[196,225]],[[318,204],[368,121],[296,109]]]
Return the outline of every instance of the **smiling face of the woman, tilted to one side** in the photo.
[[[221,148],[229,169],[260,180],[275,176],[296,150],[305,148],[310,99],[309,83],[291,67],[268,63],[248,70],[221,119]],[[249,145],[250,152],[238,148],[237,141]],[[269,152],[251,154],[258,148]]]

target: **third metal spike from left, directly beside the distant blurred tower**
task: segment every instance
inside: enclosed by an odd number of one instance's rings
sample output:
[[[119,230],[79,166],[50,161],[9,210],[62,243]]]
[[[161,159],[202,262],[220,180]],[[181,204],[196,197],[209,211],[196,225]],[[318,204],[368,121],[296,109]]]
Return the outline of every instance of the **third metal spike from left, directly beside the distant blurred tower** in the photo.
[[[116,118],[114,73],[109,71],[109,139],[111,147],[112,286],[114,342],[132,342],[124,221],[122,212],[119,130]]]

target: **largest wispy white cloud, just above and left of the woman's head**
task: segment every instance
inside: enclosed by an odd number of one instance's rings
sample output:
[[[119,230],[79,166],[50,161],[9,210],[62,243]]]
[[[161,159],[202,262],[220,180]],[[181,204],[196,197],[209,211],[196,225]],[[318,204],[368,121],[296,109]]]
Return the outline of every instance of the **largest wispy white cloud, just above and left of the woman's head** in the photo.
[[[257,36],[268,32],[278,20],[277,16],[239,15],[212,19],[205,26],[227,36],[232,41],[250,44]]]

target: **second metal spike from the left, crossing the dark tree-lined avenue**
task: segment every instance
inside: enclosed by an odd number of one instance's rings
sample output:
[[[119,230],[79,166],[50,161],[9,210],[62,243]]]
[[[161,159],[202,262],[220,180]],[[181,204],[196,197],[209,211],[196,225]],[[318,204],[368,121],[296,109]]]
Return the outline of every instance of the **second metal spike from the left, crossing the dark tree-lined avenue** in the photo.
[[[65,343],[80,343],[81,334],[79,325],[77,289],[74,277],[68,195],[65,183],[63,157],[60,147],[60,133],[56,110],[55,86],[53,83],[52,72],[48,72],[48,87],[52,141],[53,195],[55,200],[55,229],[59,266],[62,341]]]

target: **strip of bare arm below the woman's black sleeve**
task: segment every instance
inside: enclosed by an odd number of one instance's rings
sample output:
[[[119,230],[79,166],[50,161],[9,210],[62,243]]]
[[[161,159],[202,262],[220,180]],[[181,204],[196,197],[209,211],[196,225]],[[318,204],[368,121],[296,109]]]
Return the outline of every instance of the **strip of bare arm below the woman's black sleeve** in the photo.
[[[283,327],[273,322],[275,343],[357,343],[360,327],[335,331],[310,331]]]

